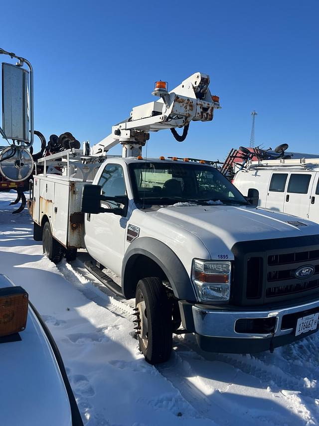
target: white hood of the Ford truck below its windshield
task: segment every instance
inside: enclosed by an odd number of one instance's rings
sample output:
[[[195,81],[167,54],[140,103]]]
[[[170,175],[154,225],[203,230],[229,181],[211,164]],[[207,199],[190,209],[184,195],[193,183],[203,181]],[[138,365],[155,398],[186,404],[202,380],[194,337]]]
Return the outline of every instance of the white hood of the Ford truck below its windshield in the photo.
[[[196,235],[212,259],[240,241],[319,234],[314,222],[253,206],[168,206],[151,214]]]

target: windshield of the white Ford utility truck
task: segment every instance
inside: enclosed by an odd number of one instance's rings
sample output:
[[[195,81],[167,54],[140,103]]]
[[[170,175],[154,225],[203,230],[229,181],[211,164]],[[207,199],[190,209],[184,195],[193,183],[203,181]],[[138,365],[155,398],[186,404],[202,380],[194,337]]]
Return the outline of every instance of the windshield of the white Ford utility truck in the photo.
[[[130,163],[134,199],[143,204],[248,204],[216,168],[198,163]]]

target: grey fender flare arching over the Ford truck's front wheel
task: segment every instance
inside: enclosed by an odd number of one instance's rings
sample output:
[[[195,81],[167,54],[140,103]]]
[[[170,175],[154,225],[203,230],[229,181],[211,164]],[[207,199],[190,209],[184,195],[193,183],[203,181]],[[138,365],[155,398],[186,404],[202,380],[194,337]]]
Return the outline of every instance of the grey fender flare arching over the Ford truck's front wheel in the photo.
[[[126,297],[133,297],[130,275],[134,257],[143,255],[153,260],[166,275],[177,299],[196,302],[191,280],[178,256],[166,244],[151,237],[140,237],[128,248],[122,266],[122,289]]]

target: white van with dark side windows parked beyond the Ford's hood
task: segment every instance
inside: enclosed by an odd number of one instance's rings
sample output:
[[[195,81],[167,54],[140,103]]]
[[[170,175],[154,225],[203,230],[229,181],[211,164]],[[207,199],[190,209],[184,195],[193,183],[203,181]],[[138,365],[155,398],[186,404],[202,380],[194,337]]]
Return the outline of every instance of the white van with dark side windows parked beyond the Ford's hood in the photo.
[[[319,223],[319,158],[253,161],[233,184],[253,205]]]

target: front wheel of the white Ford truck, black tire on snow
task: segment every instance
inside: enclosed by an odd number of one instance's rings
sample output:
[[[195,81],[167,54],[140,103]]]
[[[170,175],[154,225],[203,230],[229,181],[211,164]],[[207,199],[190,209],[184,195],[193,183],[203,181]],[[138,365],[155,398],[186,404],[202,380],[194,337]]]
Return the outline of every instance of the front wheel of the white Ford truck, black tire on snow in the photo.
[[[167,361],[172,348],[172,307],[157,277],[143,278],[136,288],[137,335],[150,364]]]

